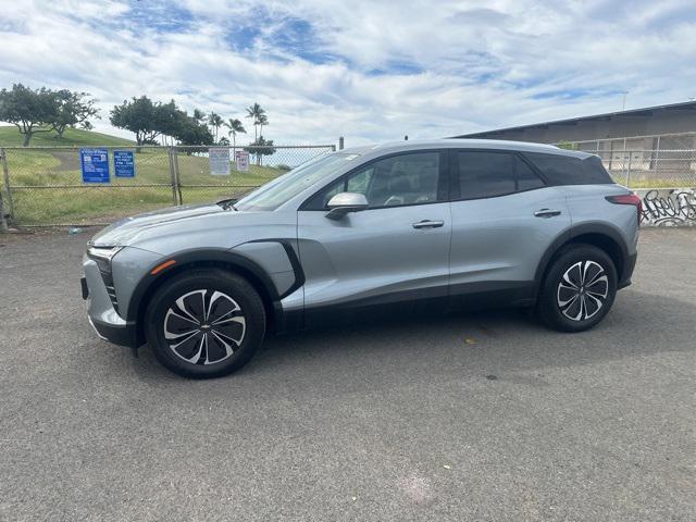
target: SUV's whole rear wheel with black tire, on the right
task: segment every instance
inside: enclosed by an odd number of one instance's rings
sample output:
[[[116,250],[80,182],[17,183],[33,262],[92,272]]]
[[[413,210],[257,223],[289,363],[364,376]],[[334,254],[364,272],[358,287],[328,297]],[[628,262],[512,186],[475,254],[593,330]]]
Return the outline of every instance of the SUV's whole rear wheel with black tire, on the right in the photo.
[[[601,322],[616,295],[617,269],[611,258],[592,245],[572,244],[554,257],[536,311],[554,330],[582,332]]]

